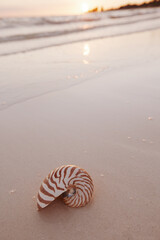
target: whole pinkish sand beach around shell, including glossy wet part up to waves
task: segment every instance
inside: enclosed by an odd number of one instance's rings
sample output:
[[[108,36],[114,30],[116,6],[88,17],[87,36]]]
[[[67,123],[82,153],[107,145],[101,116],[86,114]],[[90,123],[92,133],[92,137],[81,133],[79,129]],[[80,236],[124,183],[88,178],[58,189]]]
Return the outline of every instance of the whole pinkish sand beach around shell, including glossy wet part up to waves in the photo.
[[[0,58],[1,239],[160,239],[159,38],[153,30]],[[58,199],[37,212],[41,181],[66,164],[92,176],[91,203]]]

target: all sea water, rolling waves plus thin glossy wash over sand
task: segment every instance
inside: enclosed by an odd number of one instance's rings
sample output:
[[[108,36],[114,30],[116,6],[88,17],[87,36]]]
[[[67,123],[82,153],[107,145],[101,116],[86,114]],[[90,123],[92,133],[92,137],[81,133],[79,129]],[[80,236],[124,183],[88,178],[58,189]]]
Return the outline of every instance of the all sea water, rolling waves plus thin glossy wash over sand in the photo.
[[[107,81],[117,69],[153,64],[160,31],[147,30],[154,29],[160,29],[160,8],[1,18],[0,110],[97,76]]]

